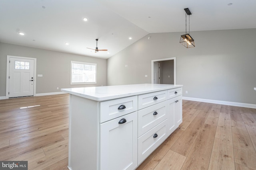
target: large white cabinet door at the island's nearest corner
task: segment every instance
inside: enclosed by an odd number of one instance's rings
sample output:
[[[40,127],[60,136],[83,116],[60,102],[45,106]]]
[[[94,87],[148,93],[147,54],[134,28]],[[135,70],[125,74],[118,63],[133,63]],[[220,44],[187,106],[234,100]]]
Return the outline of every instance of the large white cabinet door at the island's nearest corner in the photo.
[[[137,125],[137,111],[100,124],[100,170],[137,167]]]

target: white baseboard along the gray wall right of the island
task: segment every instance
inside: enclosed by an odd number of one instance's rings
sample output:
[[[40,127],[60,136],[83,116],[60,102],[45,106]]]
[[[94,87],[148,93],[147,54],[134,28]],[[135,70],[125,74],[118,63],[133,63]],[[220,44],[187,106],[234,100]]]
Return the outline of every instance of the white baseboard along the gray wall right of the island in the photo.
[[[182,99],[196,101],[196,102],[206,102],[206,103],[223,104],[223,105],[229,105],[229,106],[249,107],[249,108],[256,109],[256,104],[226,102],[221,100],[210,100],[210,99],[189,98],[189,97],[182,97]]]

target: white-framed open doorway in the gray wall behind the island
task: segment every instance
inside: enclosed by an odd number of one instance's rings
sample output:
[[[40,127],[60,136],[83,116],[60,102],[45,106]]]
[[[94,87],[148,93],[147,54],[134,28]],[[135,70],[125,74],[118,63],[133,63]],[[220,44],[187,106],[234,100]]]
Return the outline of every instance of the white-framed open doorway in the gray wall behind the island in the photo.
[[[152,60],[151,61],[151,83],[156,84],[155,82],[155,63],[160,63],[161,70],[167,70],[168,74],[159,74],[159,84],[176,84],[176,58],[166,58],[166,59],[158,59],[158,60]],[[161,64],[162,63],[162,64]],[[169,64],[172,63],[172,64]],[[169,71],[168,71],[169,70]],[[161,72],[161,71],[159,71]],[[169,81],[168,79],[172,79]],[[161,80],[161,81],[160,81]],[[169,83],[172,82],[172,83]]]

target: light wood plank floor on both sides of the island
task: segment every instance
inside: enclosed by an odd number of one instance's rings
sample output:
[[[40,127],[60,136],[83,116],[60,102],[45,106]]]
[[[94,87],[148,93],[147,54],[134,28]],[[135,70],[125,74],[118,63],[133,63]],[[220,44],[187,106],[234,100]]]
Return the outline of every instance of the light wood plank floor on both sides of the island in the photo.
[[[68,102],[67,94],[0,100],[0,160],[68,170]],[[181,169],[256,170],[256,109],[183,100],[183,123],[137,168]]]

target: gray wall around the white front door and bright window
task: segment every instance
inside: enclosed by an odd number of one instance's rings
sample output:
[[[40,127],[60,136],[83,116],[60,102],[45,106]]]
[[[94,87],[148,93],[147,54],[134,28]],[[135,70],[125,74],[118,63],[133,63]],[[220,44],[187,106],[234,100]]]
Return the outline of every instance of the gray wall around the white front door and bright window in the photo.
[[[107,60],[57,51],[0,43],[0,96],[6,96],[7,55],[36,58],[36,94],[60,92],[61,88],[106,86]],[[70,85],[70,61],[97,64],[97,84]],[[59,87],[59,90],[57,90]]]

